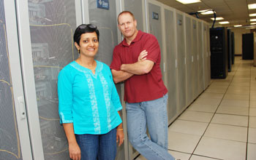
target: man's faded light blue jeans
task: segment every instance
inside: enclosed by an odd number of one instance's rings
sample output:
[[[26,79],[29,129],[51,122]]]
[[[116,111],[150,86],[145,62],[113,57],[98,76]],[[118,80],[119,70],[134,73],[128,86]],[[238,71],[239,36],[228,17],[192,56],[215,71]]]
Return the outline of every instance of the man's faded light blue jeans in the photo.
[[[167,152],[167,98],[166,94],[157,100],[126,105],[129,142],[148,160],[174,160]]]

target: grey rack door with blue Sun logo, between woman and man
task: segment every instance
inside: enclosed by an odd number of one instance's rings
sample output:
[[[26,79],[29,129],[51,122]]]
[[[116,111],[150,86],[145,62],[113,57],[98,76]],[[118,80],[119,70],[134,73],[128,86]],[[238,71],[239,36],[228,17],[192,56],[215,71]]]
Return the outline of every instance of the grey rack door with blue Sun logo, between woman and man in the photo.
[[[89,11],[89,22],[94,25],[97,25],[99,29],[99,51],[96,55],[96,59],[101,61],[102,63],[106,63],[110,65],[113,57],[113,49],[118,44],[118,27],[116,17],[119,12],[117,12],[118,4],[116,0],[109,0],[108,7],[102,7],[97,4],[99,1],[97,0],[88,0],[86,3]],[[107,6],[107,4],[105,5]],[[87,8],[84,8],[85,10]],[[119,9],[118,9],[119,10]],[[121,99],[121,84],[116,84],[116,89]],[[123,112],[121,112],[121,118],[123,120],[124,133],[125,133],[125,141],[124,144],[120,147],[117,147],[117,155],[116,159],[127,159],[125,157],[125,149],[124,146],[128,145],[127,135],[126,135],[126,119],[125,119],[125,107],[123,108]]]

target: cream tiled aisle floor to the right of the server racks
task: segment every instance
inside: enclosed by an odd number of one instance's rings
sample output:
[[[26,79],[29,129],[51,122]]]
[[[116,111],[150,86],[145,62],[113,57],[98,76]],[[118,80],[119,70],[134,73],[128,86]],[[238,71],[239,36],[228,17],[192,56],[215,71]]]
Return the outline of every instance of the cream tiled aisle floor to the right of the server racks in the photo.
[[[256,159],[256,68],[236,57],[169,127],[169,152],[181,160]],[[139,156],[136,160],[144,160]]]

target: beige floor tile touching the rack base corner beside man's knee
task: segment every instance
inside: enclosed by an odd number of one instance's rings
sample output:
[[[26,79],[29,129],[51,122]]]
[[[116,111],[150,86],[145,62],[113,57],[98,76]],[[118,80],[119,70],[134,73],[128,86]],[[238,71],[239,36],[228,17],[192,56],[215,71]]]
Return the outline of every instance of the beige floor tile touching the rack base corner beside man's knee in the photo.
[[[206,131],[207,126],[208,123],[203,122],[176,120],[169,127],[169,132],[179,132],[190,135],[203,135],[203,132]]]

